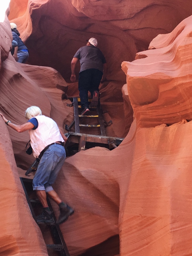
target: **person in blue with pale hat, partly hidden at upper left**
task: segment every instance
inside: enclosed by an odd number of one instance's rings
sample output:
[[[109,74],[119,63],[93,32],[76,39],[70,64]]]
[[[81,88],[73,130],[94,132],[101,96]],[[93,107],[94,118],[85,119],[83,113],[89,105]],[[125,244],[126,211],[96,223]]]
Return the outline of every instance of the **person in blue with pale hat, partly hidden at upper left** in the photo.
[[[14,48],[13,57],[19,63],[25,63],[29,57],[29,51],[23,41],[20,39],[20,33],[17,30],[15,23],[10,23],[13,40],[17,42],[17,46]]]

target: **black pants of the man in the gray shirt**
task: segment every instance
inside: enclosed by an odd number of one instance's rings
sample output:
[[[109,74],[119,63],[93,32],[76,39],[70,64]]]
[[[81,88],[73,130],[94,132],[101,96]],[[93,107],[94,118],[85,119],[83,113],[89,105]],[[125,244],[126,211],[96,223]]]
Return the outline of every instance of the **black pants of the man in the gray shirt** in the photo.
[[[99,91],[102,76],[103,73],[99,69],[86,69],[79,73],[78,89],[82,109],[89,107],[88,91],[91,93],[91,98],[95,90]]]

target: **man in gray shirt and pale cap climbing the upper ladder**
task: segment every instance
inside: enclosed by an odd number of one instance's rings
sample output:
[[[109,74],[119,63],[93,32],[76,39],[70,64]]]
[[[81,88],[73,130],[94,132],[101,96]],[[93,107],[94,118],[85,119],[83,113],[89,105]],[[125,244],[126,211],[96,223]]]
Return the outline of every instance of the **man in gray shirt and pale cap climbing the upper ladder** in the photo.
[[[71,61],[71,81],[76,81],[75,66],[80,61],[79,96],[82,106],[82,115],[89,114],[88,91],[91,93],[91,106],[97,106],[99,97],[99,84],[106,80],[107,63],[104,55],[97,48],[98,42],[90,38],[87,45],[78,49]]]

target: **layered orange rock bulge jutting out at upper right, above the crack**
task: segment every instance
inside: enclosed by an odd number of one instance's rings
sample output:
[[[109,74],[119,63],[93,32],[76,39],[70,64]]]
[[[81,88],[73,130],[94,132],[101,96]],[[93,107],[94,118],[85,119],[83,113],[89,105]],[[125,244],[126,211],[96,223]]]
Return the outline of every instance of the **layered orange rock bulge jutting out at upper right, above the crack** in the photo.
[[[191,25],[192,16],[173,32],[155,38],[149,47],[157,49],[138,53],[135,61],[122,63],[138,127],[192,120]],[[145,58],[139,59],[140,55]]]

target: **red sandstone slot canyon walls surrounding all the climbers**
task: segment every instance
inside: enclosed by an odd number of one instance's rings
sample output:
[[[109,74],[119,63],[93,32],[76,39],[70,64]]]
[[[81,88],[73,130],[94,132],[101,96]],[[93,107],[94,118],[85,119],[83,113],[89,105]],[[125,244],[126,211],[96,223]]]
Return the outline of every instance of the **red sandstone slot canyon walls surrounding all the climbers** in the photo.
[[[35,105],[67,133],[70,99],[79,95],[80,65],[70,81],[74,54],[94,37],[107,61],[100,101],[113,124],[106,136],[124,139],[113,150],[67,157],[54,183],[75,210],[60,225],[71,256],[192,255],[191,15],[190,0],[0,3],[0,112],[14,124]],[[10,22],[29,49],[25,64],[11,55]],[[0,255],[56,256],[19,179],[34,161],[25,152],[29,133],[1,116],[0,127]]]

